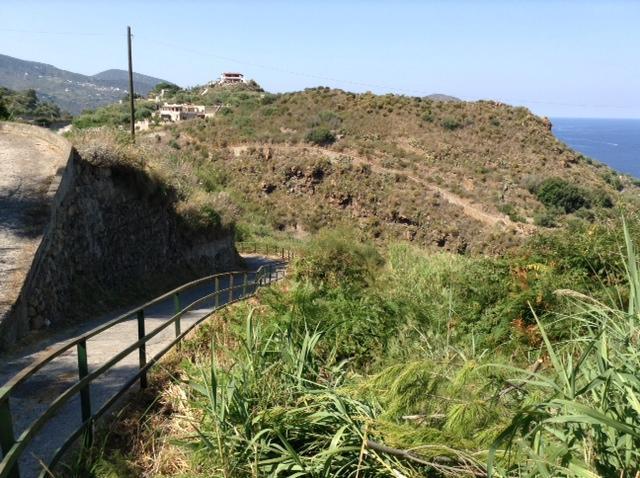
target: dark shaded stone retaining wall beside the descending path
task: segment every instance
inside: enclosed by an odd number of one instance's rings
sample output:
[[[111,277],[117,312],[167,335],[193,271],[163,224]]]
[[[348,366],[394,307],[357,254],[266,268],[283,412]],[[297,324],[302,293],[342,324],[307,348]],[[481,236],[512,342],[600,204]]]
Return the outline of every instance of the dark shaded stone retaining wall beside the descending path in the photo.
[[[0,317],[0,349],[31,330],[88,318],[141,291],[234,267],[233,231],[194,231],[144,172],[96,166],[69,147],[19,297]]]

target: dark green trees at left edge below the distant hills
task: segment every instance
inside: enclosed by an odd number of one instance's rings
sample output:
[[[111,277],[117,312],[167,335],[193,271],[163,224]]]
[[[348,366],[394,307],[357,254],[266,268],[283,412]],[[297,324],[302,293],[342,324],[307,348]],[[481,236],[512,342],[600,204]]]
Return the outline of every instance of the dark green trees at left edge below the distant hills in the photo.
[[[49,101],[38,98],[35,90],[12,91],[0,87],[0,120],[25,121],[49,126],[67,120],[68,115]]]

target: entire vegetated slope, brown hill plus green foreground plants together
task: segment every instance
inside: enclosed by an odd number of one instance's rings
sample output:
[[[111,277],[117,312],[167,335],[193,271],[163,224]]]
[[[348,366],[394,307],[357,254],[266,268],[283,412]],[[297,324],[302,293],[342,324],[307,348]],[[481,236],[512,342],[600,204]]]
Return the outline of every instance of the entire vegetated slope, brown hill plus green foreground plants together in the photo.
[[[94,476],[638,473],[629,178],[491,102],[201,98],[215,118],[118,147],[188,224],[303,253],[184,344]]]

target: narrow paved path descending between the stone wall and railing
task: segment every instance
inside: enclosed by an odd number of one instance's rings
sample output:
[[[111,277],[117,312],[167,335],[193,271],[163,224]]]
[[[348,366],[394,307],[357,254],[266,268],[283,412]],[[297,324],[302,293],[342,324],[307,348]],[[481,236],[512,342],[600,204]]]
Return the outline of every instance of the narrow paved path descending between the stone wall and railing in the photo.
[[[270,262],[260,256],[245,256],[247,268],[255,271],[260,265]],[[255,274],[250,274],[249,281]],[[240,283],[242,275],[234,277],[234,283]],[[220,281],[220,288],[228,287],[228,281]],[[186,306],[196,299],[213,292],[213,284],[203,285],[181,296],[182,306]],[[241,294],[238,289],[234,299]],[[221,294],[221,303],[226,303],[228,296]],[[211,312],[213,303],[203,304],[198,309],[188,312],[182,318],[182,330],[197,319]],[[66,341],[73,339],[102,323],[117,317],[118,313],[110,314],[99,320],[86,322],[73,329],[65,330],[54,336],[32,343],[12,357],[0,358],[0,386],[6,383],[18,371],[36,362],[47,353],[55,350]],[[145,330],[151,332],[174,313],[171,298],[145,310]],[[105,363],[109,358],[127,348],[137,340],[138,328],[135,318],[122,322],[87,341],[89,356],[89,371]],[[167,327],[150,342],[147,343],[147,358],[153,357],[175,337],[173,325]],[[106,374],[91,384],[92,410],[98,410],[113,396],[118,389],[137,371],[138,351],[129,354]],[[18,437],[33,420],[48,408],[59,394],[78,381],[77,354],[75,347],[47,364],[35,375],[21,384],[11,395],[11,409],[14,417],[14,433]],[[21,478],[32,478],[38,475],[41,467],[38,460],[48,463],[58,447],[81,424],[79,397],[70,400],[47,425],[37,434],[20,461]]]

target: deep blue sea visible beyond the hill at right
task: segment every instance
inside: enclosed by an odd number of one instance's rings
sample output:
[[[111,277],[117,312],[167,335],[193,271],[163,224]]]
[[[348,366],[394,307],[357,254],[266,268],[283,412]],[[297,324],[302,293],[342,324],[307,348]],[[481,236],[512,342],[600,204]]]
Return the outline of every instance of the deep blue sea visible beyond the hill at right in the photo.
[[[552,132],[572,149],[640,178],[640,119],[551,118]]]

